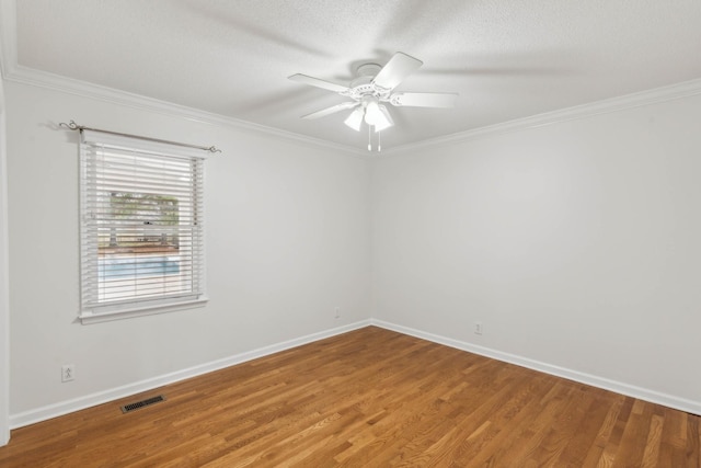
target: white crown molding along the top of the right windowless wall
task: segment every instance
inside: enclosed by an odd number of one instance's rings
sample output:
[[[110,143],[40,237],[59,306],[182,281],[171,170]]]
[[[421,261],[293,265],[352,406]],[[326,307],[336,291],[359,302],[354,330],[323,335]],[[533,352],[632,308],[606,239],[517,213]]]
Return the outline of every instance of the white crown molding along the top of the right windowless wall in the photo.
[[[641,107],[659,102],[668,102],[677,99],[689,98],[697,94],[701,94],[701,79],[683,81],[681,83],[676,83],[667,87],[655,88],[647,91],[625,94],[622,96],[596,101],[588,104],[575,105],[573,107],[537,114],[530,117],[517,118],[514,121],[490,125],[486,127],[474,128],[471,130],[450,134],[437,138],[430,138],[418,142],[402,145],[383,151],[380,158],[398,156],[398,153],[414,151],[417,149],[433,149],[436,147],[456,145],[476,138],[491,137],[513,132],[520,132],[529,128],[543,127],[545,125],[587,118],[601,114],[610,114],[628,109]]]

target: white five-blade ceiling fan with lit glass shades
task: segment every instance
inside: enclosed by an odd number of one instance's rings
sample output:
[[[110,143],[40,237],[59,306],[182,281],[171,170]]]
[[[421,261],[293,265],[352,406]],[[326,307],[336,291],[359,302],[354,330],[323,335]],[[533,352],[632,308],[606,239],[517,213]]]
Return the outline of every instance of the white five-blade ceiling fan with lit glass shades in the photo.
[[[381,132],[394,125],[386,104],[395,107],[452,107],[457,93],[393,92],[406,77],[424,62],[404,53],[398,52],[384,67],[377,64],[364,64],[357,68],[357,78],[349,85],[337,84],[307,75],[292,75],[290,80],[333,91],[350,101],[321,111],[303,115],[301,118],[319,118],[336,112],[353,109],[345,124],[356,132],[365,122],[375,132]]]

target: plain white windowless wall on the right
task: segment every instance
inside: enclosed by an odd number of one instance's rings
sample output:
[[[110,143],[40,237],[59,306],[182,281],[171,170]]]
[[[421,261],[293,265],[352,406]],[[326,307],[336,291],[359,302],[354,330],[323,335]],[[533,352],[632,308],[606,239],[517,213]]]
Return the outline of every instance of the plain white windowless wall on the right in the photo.
[[[696,95],[377,161],[374,317],[698,413],[700,122]]]

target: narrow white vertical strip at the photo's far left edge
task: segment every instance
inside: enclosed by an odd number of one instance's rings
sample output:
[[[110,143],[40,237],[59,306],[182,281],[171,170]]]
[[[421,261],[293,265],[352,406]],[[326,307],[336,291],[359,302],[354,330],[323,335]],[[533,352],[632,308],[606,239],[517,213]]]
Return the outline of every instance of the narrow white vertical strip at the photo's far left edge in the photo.
[[[0,446],[10,441],[10,301],[8,298],[8,206],[5,112],[0,79]]]

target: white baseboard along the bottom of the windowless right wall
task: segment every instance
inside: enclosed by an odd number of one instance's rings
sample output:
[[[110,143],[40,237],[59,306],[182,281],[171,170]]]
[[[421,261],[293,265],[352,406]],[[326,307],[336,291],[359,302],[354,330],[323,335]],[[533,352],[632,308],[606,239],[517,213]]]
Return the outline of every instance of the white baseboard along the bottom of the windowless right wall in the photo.
[[[484,346],[468,343],[464,341],[453,340],[451,338],[427,333],[421,330],[398,326],[398,324],[386,322],[382,320],[371,319],[370,323],[376,327],[395,331],[398,333],[409,334],[411,336],[421,338],[422,340],[427,340],[434,343],[444,344],[446,346],[455,347],[457,350],[467,351],[469,353],[479,354],[481,356],[491,357],[493,359],[503,361],[509,364],[515,364],[520,367],[527,367],[529,369],[554,375],[556,377],[562,377],[568,380],[578,381],[581,384],[590,385],[593,387],[602,388],[605,390],[610,390],[616,393],[621,393],[628,397],[637,398],[640,400],[650,401],[652,403],[657,403],[668,408],[674,408],[676,410],[685,411],[687,413],[701,415],[700,401],[688,400],[685,398],[675,397],[674,395],[660,393],[655,390],[636,387],[634,385],[629,385],[621,381],[610,380],[608,378],[598,377],[591,374],[585,374],[577,370],[560,367],[560,366],[553,366],[552,364],[542,363],[540,361],[530,359],[528,357],[504,353],[497,350],[492,350],[490,347],[484,347]]]

